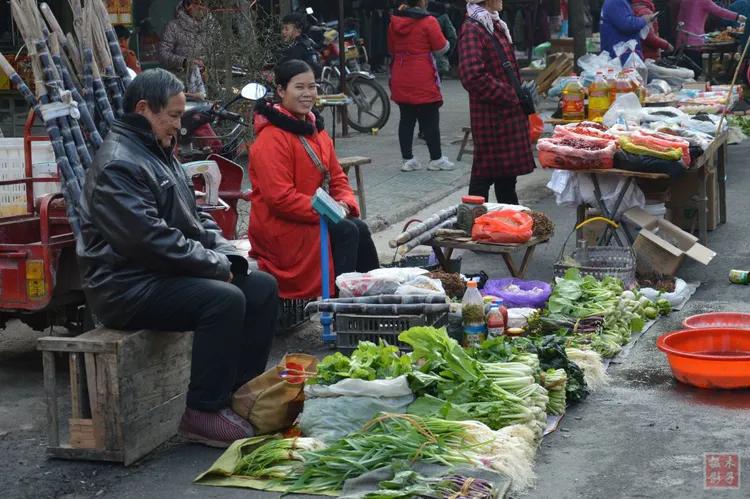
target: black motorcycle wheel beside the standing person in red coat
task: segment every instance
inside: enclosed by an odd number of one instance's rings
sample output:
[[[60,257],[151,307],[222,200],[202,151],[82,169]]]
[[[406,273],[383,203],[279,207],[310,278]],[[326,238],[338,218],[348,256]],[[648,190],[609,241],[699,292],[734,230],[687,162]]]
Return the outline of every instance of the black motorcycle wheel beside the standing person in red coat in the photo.
[[[365,78],[354,78],[348,87],[354,101],[346,109],[349,125],[362,133],[383,128],[391,116],[388,92],[377,81]]]

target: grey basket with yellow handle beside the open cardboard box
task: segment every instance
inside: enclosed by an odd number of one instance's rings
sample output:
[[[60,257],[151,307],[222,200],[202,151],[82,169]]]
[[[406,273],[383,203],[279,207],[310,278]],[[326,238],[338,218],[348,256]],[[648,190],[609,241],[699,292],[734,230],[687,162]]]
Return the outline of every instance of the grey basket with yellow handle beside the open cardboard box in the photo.
[[[563,243],[563,246],[560,249],[560,255],[554,265],[555,277],[563,277],[568,269],[577,268],[581,272],[581,275],[590,275],[599,280],[604,279],[606,276],[616,277],[617,279],[620,279],[626,287],[632,285],[635,283],[636,260],[635,253],[630,247],[591,246],[585,249],[585,257],[581,255],[583,248],[576,248],[568,256],[577,262],[585,259],[586,264],[571,265],[564,262],[563,256],[565,254],[565,247],[570,240],[570,236],[572,236],[576,230],[595,220],[605,221],[615,228],[619,226],[612,220],[603,217],[591,218],[577,225],[570,234],[568,234],[565,243]]]

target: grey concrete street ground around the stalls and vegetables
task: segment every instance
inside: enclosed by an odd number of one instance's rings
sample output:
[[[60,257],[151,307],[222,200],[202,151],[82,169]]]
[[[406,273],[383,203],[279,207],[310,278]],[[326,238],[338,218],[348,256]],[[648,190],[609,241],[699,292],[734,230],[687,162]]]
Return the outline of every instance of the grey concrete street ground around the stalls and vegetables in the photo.
[[[444,116],[454,112],[450,110],[452,102],[458,103],[463,98],[460,89],[456,88],[455,94],[446,98]],[[459,122],[466,118],[460,116],[460,105],[455,105],[453,121],[460,127]],[[367,186],[372,185],[368,193],[372,216],[392,217],[392,222],[396,222],[399,210],[403,210],[405,214],[401,218],[408,218],[420,209],[420,205],[426,206],[423,204],[425,196],[432,191],[441,194],[435,194],[435,199],[429,201],[429,208],[416,213],[417,217],[427,216],[443,205],[454,204],[459,193],[450,193],[455,190],[451,186],[465,185],[465,180],[461,179],[465,178],[468,167],[464,167],[466,171],[463,173],[400,173],[394,137],[396,123],[394,115],[388,127],[377,137],[355,137],[338,144],[342,154],[387,158],[378,159],[377,166],[366,170]],[[447,135],[445,130],[443,133]],[[376,140],[383,142],[378,142],[378,146]],[[358,149],[354,141],[360,141]],[[680,271],[684,279],[702,282],[698,292],[684,311],[660,321],[641,338],[624,364],[610,369],[612,382],[609,388],[571,408],[560,431],[545,437],[537,456],[538,484],[527,497],[682,499],[750,496],[750,479],[746,479],[739,490],[703,488],[703,454],[706,452],[737,452],[743,459],[743,475],[750,476],[747,437],[750,392],[704,391],[680,385],[672,379],[663,355],[655,348],[660,334],[679,327],[679,322],[691,313],[750,310],[750,288],[730,285],[726,277],[732,268],[748,268],[750,257],[745,242],[748,228],[745,214],[750,211],[750,200],[746,195],[750,191],[750,178],[744,175],[745,154],[750,154],[750,144],[730,148],[729,221],[710,233],[708,242],[718,256],[707,267],[686,262]],[[450,155],[455,156],[454,153]],[[574,222],[573,210],[557,207],[550,192],[544,188],[548,176],[548,172],[537,170],[524,177],[519,185],[521,201],[546,212],[557,225],[555,237],[537,250],[527,274],[529,278],[546,280],[552,277],[552,264]],[[435,179],[438,178],[444,180],[436,186]],[[433,187],[426,187],[428,183]],[[398,201],[388,203],[389,186],[392,189],[398,186],[401,193],[405,192],[404,189],[413,189],[415,194],[411,198],[398,194]],[[372,198],[370,193],[373,193]],[[373,204],[370,204],[370,199]],[[410,208],[403,208],[407,204]],[[400,228],[400,223],[392,225],[395,228],[375,235],[383,258],[392,255],[387,249],[387,241]],[[508,275],[499,258],[477,255],[465,255],[462,270],[485,270],[493,277]],[[318,334],[318,328],[311,324],[278,338],[272,360],[279,359],[286,351],[326,353],[328,350],[320,343]],[[210,466],[220,451],[190,445],[179,438],[172,439],[128,468],[46,459],[41,359],[33,350],[34,338],[38,335],[17,324],[0,331],[2,497],[272,497],[250,490],[193,485],[193,478]],[[59,375],[62,379],[66,377],[64,370]],[[61,403],[67,389],[64,384],[59,387]]]

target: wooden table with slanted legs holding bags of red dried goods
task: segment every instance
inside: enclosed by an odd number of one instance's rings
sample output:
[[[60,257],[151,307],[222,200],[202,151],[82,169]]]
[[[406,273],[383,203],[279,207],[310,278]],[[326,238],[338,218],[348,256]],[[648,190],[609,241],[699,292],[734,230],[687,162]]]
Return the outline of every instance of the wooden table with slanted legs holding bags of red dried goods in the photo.
[[[699,156],[689,169],[686,171],[686,175],[695,175],[698,182],[698,194],[693,199],[698,211],[698,238],[701,243],[706,243],[708,239],[708,179],[712,173],[715,173],[718,177],[718,197],[719,197],[719,223],[726,223],[727,221],[727,204],[726,204],[726,158],[727,158],[727,139],[728,132],[719,134],[706,151]],[[601,169],[601,170],[577,170],[576,173],[588,174],[594,184],[594,194],[596,196],[597,208],[602,211],[603,216],[612,218],[618,211],[622,200],[625,197],[628,189],[635,183],[637,179],[644,180],[669,180],[671,177],[664,173],[648,173],[648,172],[634,172],[630,170],[620,170],[617,168]],[[598,176],[599,175],[616,175],[625,178],[627,181],[622,187],[621,191],[617,193],[615,205],[612,210],[607,209],[602,198],[601,189],[599,188]],[[576,225],[583,222],[586,216],[586,205],[579,205],[577,210],[577,222]],[[633,237],[628,233],[627,227],[621,226],[625,232],[625,237],[628,242],[633,243]],[[580,237],[580,234],[579,234]],[[600,243],[607,243],[612,238],[615,241],[623,245],[622,240],[617,235],[617,232],[613,229],[606,229],[600,238]]]

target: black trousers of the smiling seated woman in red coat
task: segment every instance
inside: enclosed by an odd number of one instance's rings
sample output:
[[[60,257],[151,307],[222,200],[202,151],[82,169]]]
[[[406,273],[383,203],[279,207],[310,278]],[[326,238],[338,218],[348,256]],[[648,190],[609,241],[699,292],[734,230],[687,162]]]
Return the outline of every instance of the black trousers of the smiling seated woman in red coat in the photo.
[[[347,272],[369,272],[380,267],[378,250],[370,228],[358,218],[345,218],[328,224],[336,276]]]

